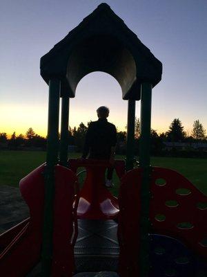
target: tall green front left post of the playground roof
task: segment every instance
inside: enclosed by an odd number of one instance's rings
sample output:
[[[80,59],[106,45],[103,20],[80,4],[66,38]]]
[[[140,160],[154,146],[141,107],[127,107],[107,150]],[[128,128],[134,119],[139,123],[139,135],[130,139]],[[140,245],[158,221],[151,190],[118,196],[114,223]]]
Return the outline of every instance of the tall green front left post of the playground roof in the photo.
[[[53,202],[55,198],[55,165],[59,149],[59,90],[58,79],[49,82],[48,145],[45,172],[45,199],[41,266],[43,277],[50,276],[52,264]]]

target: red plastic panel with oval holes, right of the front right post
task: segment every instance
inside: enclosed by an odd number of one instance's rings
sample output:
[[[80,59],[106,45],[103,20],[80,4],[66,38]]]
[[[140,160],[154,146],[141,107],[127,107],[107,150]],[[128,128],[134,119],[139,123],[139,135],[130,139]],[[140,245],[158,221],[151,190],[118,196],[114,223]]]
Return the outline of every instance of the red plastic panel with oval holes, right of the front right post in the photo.
[[[159,179],[164,181],[161,186]],[[155,232],[172,235],[207,258],[207,197],[188,179],[166,168],[152,169],[151,192],[150,220]]]

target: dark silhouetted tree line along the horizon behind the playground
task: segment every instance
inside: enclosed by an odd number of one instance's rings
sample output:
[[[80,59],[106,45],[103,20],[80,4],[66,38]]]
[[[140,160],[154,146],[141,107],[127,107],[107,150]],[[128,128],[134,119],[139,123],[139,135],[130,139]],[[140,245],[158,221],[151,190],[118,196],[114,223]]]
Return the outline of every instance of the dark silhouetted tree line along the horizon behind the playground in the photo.
[[[88,129],[87,125],[80,123],[78,127],[68,127],[68,144],[74,145],[77,152],[81,152],[83,149],[83,143],[85,141],[86,132]],[[125,154],[126,151],[126,131],[117,130],[117,153]],[[140,138],[140,120],[135,118],[135,154],[139,154],[139,138]],[[46,150],[47,139],[43,136],[34,132],[34,129],[30,127],[26,134],[19,134],[13,132],[10,139],[6,133],[0,133],[0,146],[6,145],[8,149],[19,149],[19,148],[41,148]],[[200,123],[199,120],[195,120],[193,123],[193,129],[190,132],[185,132],[184,126],[179,118],[172,120],[168,127],[167,132],[158,134],[155,129],[151,129],[151,152],[157,154],[164,148],[165,142],[172,143],[207,143],[206,129]],[[5,148],[5,147],[4,147]]]

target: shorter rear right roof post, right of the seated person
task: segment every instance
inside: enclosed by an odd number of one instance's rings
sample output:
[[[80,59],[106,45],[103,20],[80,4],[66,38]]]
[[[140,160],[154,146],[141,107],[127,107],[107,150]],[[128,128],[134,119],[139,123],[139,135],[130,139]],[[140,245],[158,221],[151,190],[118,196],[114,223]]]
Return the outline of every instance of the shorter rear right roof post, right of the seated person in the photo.
[[[135,152],[135,103],[136,100],[128,100],[127,141],[126,141],[126,170],[134,166]]]

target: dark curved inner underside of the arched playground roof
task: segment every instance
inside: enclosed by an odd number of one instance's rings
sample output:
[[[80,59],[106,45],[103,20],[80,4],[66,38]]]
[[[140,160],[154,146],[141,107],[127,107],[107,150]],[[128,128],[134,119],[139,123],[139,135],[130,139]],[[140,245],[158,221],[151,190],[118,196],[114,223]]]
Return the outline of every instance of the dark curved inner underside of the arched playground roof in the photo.
[[[103,71],[119,82],[125,96],[136,81],[134,57],[126,46],[112,35],[94,35],[81,40],[68,58],[66,78],[75,96],[77,84],[88,73]]]

